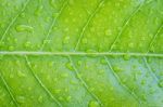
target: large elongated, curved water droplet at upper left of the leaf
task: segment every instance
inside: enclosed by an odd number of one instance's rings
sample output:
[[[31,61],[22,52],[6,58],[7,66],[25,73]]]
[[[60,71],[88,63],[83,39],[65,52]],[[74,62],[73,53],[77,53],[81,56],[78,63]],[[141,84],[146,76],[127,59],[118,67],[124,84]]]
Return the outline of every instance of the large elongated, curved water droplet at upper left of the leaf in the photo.
[[[33,30],[34,30],[34,28],[32,26],[28,26],[28,25],[17,25],[15,27],[15,29],[17,32],[21,32],[21,31],[33,32]]]

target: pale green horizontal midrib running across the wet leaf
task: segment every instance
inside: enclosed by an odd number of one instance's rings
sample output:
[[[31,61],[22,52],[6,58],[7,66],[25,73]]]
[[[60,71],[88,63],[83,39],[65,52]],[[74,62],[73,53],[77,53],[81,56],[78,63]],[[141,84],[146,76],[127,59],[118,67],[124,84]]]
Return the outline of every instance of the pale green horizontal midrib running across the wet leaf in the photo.
[[[133,52],[38,52],[38,51],[0,51],[0,55],[97,55],[97,56],[149,56],[163,57],[161,53],[133,53]]]

